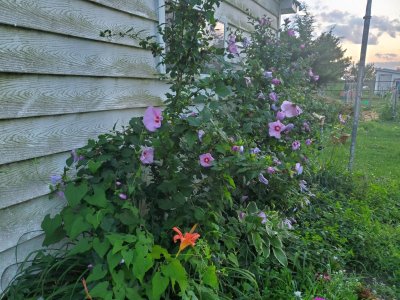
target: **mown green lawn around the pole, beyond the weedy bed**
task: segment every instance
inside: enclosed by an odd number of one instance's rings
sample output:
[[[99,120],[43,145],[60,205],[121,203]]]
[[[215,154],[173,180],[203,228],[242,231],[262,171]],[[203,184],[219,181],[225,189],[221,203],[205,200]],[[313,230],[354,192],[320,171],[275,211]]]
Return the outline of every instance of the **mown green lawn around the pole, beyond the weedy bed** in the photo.
[[[348,130],[350,133],[350,131]],[[347,168],[350,139],[344,144],[333,144],[321,151],[323,164]],[[356,143],[354,173],[374,179],[400,179],[400,123],[390,121],[361,122]]]

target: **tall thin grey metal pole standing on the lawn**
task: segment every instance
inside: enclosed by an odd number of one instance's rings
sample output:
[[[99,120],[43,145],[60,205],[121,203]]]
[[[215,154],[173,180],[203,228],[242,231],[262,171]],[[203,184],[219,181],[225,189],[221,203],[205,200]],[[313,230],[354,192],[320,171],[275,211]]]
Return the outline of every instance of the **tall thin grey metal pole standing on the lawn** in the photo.
[[[372,0],[368,0],[367,9],[364,17],[364,32],[361,45],[360,64],[358,65],[356,101],[354,103],[353,130],[351,132],[349,171],[353,170],[354,156],[356,150],[358,121],[360,118],[361,94],[364,82],[365,57],[367,56],[368,34],[369,34],[369,26],[371,24],[371,6],[372,6]]]

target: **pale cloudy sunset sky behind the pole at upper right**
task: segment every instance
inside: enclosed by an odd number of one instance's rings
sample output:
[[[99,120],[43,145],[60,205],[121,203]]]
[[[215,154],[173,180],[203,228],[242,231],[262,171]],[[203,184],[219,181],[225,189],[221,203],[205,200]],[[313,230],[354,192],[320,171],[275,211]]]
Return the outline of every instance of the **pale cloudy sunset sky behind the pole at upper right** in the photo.
[[[367,0],[302,0],[316,18],[316,31],[334,27],[342,38],[346,55],[360,59]],[[372,0],[372,19],[367,63],[376,67],[400,68],[400,0]]]

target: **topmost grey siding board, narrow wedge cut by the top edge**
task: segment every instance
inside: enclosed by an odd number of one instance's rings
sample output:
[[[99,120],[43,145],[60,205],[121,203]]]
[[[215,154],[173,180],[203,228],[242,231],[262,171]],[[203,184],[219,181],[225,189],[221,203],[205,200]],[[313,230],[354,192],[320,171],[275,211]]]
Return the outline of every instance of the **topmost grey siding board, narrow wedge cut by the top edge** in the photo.
[[[158,0],[88,0],[116,10],[158,21]]]

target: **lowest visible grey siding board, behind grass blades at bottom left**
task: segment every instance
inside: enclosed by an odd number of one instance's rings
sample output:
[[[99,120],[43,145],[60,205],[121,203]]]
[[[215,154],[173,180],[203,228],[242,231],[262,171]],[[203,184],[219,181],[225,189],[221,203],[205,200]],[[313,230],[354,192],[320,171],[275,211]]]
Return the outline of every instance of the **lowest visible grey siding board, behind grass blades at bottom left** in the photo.
[[[27,234],[22,237],[22,240],[18,246],[0,253],[0,293],[15,276],[18,264],[23,262],[33,250],[41,248],[44,236],[32,238],[30,234]]]

